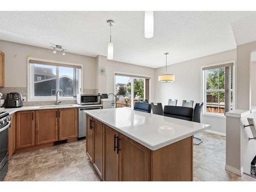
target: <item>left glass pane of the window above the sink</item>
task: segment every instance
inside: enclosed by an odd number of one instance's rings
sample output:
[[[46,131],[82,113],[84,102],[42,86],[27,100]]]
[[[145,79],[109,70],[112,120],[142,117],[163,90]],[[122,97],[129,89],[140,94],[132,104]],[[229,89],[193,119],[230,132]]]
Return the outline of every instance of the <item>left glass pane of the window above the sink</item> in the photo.
[[[34,69],[34,96],[55,96],[56,67],[32,64]]]

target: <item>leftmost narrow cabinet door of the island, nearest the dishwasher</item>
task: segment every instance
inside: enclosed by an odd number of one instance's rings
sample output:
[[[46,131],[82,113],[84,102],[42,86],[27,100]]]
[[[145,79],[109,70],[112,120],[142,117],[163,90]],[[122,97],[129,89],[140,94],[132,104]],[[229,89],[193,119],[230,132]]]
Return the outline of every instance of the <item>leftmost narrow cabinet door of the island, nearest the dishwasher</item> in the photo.
[[[86,153],[91,162],[93,162],[93,129],[91,129],[91,122],[93,118],[89,115],[87,117],[87,133],[86,133]]]

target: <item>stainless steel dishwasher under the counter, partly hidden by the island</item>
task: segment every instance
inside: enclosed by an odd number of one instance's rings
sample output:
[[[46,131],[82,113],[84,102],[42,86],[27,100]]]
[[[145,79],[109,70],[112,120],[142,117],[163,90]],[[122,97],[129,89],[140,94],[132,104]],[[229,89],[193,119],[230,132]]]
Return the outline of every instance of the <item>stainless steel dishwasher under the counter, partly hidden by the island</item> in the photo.
[[[85,110],[98,110],[100,106],[93,106],[88,108],[78,108],[78,138],[86,137],[86,113]]]

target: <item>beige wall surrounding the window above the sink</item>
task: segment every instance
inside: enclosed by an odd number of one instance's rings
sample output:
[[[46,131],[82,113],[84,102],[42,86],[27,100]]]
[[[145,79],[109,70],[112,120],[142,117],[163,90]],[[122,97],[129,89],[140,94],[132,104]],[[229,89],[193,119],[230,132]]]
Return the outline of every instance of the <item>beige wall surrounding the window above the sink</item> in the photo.
[[[27,56],[39,59],[79,63],[83,65],[83,88],[97,89],[96,58],[60,52],[54,54],[44,49],[0,40],[0,50],[5,53],[5,87],[27,87]]]

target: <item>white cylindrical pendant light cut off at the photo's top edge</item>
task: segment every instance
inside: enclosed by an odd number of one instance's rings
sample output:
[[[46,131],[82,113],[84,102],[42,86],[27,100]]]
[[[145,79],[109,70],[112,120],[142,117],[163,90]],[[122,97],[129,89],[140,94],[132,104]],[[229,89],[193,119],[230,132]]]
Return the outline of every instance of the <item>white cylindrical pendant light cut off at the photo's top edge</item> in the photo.
[[[154,36],[154,11],[145,11],[144,15],[144,37]]]

